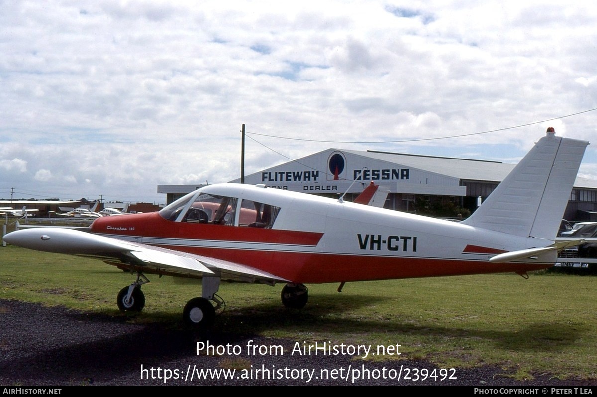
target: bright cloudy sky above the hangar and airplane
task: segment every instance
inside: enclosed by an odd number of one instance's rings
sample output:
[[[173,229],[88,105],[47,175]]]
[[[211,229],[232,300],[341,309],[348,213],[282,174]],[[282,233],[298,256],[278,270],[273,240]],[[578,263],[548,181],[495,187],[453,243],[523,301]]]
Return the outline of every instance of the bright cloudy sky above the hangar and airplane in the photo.
[[[242,123],[247,173],[330,147],[515,163],[553,126],[597,179],[597,5],[564,3],[0,0],[0,198],[163,202],[238,178]]]

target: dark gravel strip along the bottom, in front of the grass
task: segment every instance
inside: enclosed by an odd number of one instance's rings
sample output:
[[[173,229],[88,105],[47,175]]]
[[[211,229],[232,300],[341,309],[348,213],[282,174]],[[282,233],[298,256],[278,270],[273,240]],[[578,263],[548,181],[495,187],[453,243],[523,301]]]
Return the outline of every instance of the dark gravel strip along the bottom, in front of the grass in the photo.
[[[282,346],[284,354],[246,355],[246,346],[251,340],[256,346]],[[229,344],[232,354],[197,355],[198,342],[210,343],[211,346]],[[294,343],[247,335],[177,330],[169,328],[168,324],[129,324],[124,317],[0,300],[0,384],[3,385],[597,384],[596,380],[550,379],[548,374],[537,376],[530,382],[518,382],[495,367],[456,368],[443,374],[437,370],[436,379],[414,380],[416,374],[413,368],[433,371],[433,364],[404,360],[371,362],[347,355],[290,355]],[[235,355],[233,346],[238,346],[237,352],[242,349],[242,353]],[[401,368],[401,379],[398,380]],[[197,379],[201,370],[233,369],[236,370],[233,379],[223,379],[221,372],[220,379],[214,373],[207,374],[207,379]],[[190,374],[187,375],[189,371],[193,373],[192,380]],[[322,373],[327,373],[328,379],[321,379]],[[369,374],[368,379],[355,379],[353,382],[353,377],[365,373]],[[410,380],[404,379],[407,373]],[[144,379],[141,379],[142,374]],[[249,379],[241,379],[244,375]],[[442,375],[447,379],[441,380]],[[170,379],[165,381],[165,376],[170,376]],[[456,379],[449,379],[451,376]]]

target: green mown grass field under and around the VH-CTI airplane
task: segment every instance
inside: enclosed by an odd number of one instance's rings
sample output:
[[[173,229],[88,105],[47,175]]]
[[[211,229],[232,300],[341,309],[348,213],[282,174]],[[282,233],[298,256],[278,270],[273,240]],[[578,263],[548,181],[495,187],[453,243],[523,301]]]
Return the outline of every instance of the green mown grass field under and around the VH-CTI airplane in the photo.
[[[182,327],[181,312],[201,284],[149,276],[134,322]],[[124,315],[116,293],[134,276],[97,260],[0,247],[0,298]],[[214,332],[293,342],[401,345],[401,355],[440,367],[497,365],[519,379],[597,379],[596,277],[552,273],[309,285],[304,309],[286,309],[281,286],[223,283],[226,311]],[[1,305],[0,305],[1,306]],[[0,315],[2,308],[0,307]]]

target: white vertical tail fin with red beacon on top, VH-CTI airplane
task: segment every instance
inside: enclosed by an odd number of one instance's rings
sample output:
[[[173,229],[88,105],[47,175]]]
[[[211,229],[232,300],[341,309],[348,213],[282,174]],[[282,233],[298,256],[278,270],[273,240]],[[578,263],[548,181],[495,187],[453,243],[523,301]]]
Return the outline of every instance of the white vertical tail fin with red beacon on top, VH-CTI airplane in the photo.
[[[588,144],[556,137],[548,128],[546,136],[462,223],[553,240]]]

